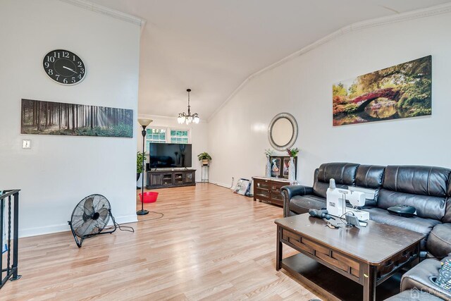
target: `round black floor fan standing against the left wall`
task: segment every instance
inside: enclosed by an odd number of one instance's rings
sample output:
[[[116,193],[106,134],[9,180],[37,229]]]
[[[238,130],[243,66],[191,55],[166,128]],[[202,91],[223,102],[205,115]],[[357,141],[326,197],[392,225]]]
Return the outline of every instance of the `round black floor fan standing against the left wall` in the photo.
[[[113,220],[113,228],[111,231],[102,232],[108,224],[110,216]],[[82,247],[85,238],[92,238],[98,234],[111,234],[117,228],[116,221],[111,214],[110,202],[103,195],[89,195],[82,199],[73,209],[68,223],[78,247]]]

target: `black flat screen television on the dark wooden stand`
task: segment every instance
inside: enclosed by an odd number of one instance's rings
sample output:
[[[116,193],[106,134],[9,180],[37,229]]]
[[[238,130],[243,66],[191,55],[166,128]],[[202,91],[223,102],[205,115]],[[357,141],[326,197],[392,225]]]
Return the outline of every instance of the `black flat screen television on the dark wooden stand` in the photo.
[[[180,143],[150,143],[149,168],[192,166],[191,145]]]

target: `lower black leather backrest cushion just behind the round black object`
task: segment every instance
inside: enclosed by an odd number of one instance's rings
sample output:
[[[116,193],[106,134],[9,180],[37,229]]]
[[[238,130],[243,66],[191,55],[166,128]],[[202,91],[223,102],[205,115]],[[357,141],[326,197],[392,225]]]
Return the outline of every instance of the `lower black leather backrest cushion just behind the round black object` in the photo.
[[[430,195],[412,195],[410,193],[395,192],[392,190],[379,190],[377,207],[388,209],[388,207],[404,204],[413,206],[416,215],[424,219],[436,219],[440,221],[445,216],[445,197],[433,197]]]

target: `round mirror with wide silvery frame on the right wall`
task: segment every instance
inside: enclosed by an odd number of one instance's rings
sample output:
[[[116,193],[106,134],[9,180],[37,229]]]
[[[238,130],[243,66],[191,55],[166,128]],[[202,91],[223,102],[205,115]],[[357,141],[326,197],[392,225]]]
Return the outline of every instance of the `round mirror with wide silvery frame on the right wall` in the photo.
[[[290,113],[279,113],[274,116],[268,127],[268,139],[271,146],[284,151],[295,144],[297,138],[297,122]]]

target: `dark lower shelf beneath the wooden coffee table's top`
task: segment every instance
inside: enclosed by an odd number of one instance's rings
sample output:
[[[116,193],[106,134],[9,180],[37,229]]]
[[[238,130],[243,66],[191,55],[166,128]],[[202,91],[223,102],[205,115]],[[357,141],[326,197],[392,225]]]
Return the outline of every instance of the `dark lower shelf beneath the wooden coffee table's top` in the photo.
[[[281,268],[310,288],[327,295],[328,300],[363,300],[362,285],[302,253],[283,259]],[[401,276],[402,273],[398,272],[378,285],[376,300],[385,300],[399,293]]]

